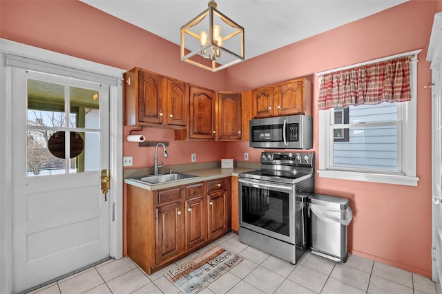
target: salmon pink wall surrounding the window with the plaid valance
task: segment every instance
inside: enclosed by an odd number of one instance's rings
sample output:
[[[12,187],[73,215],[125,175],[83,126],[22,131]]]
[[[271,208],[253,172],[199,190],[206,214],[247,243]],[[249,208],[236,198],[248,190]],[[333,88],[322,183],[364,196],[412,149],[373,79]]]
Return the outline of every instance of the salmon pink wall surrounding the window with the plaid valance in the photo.
[[[438,2],[438,1],[436,1]],[[441,1],[439,1],[441,2]],[[258,56],[229,69],[229,90],[249,90],[307,76],[314,93],[314,148],[318,168],[318,78],[316,72],[423,49],[417,81],[417,187],[320,178],[316,193],[349,198],[354,212],[349,251],[408,271],[431,276],[431,96],[430,64],[425,61],[434,18],[433,1],[410,1],[340,28]],[[260,149],[229,143],[227,157]]]

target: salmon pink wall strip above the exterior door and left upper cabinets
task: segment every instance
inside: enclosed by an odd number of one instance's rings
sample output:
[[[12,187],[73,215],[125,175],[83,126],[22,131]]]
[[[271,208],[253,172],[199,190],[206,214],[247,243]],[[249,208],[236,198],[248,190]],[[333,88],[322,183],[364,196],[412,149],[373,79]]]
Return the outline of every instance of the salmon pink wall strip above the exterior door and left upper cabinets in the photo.
[[[1,0],[0,9],[3,39],[123,70],[143,67],[209,89],[224,87],[225,72],[207,74],[184,63],[178,45],[78,0]]]

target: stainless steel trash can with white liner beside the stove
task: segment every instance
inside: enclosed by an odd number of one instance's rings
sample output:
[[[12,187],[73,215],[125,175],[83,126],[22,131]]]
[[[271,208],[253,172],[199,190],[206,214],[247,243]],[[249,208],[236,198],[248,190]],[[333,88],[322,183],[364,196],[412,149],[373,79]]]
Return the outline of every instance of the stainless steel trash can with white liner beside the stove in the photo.
[[[352,220],[349,200],[311,194],[309,218],[311,253],[336,262],[347,262],[347,225]]]

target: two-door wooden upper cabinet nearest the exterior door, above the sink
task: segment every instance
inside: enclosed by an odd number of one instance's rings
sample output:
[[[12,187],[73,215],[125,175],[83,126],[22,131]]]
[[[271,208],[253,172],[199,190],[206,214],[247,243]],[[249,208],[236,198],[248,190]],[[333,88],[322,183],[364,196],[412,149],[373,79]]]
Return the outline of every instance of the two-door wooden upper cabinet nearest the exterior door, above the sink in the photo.
[[[124,125],[186,126],[187,83],[140,67],[124,80]]]

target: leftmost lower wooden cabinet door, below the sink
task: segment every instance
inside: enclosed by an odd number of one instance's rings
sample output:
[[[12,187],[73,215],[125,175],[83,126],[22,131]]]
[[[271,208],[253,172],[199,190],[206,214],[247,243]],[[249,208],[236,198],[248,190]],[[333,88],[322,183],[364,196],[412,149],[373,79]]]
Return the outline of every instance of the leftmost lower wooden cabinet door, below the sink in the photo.
[[[182,251],[182,211],[180,202],[155,209],[156,263],[173,258]]]

